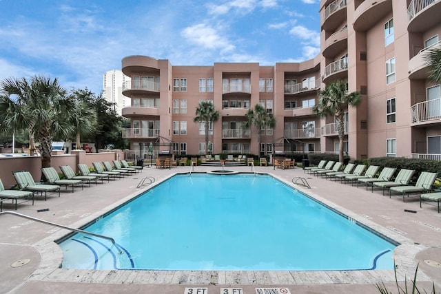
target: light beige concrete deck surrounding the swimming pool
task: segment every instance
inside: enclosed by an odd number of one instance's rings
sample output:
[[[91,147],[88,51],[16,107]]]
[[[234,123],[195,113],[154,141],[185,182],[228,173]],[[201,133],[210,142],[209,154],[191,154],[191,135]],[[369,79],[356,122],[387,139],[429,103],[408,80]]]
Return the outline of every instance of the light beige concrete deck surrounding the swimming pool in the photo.
[[[205,172],[219,167],[194,167]],[[228,167],[251,172],[251,167]],[[190,167],[156,169],[145,167],[139,174],[104,182],[92,187],[71,190],[62,188],[61,197],[48,196],[19,204],[18,213],[49,222],[79,228],[99,218],[105,211],[133,198],[144,189],[136,189],[141,178],[154,176],[155,184],[175,173],[189,172]],[[431,293],[432,282],[441,291],[441,213],[436,207],[422,204],[419,198],[402,201],[401,196],[382,196],[364,187],[351,187],[305,174],[301,168],[273,169],[255,167],[268,173],[319,202],[345,214],[348,221],[360,222],[380,234],[400,242],[393,258],[397,264],[400,286],[411,288],[417,264],[417,286]],[[306,178],[311,189],[294,185],[296,177]],[[48,209],[48,210],[45,210]],[[43,211],[38,211],[43,210]],[[407,211],[405,211],[407,210]],[[3,211],[14,211],[4,204]],[[415,211],[415,212],[408,212]],[[89,271],[59,269],[62,252],[53,242],[69,233],[65,229],[34,222],[10,214],[0,216],[0,293],[224,293],[222,288],[241,288],[257,293],[256,288],[286,288],[290,293],[379,293],[377,283],[384,282],[396,292],[395,273],[391,271]],[[240,224],[238,224],[240,225]],[[326,250],[326,249],[324,249]],[[362,252],[360,252],[362,254]],[[429,261],[429,262],[427,262]],[[199,289],[199,291],[197,291]],[[283,293],[283,292],[280,292]]]

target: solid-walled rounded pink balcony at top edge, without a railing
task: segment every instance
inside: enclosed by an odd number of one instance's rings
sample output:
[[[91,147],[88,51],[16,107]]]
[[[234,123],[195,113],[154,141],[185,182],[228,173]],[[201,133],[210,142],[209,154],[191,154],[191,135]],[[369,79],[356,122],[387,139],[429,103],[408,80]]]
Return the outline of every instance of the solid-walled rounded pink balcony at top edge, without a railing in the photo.
[[[365,0],[353,14],[353,29],[365,32],[390,12],[392,0]]]

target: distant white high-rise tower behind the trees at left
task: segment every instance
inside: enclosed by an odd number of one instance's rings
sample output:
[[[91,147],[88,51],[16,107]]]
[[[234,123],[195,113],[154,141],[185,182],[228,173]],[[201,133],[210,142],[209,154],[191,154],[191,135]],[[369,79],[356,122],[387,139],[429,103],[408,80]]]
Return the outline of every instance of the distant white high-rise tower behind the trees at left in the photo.
[[[121,116],[122,109],[130,106],[130,98],[123,95],[123,84],[130,82],[130,77],[121,70],[109,70],[103,74],[103,97],[115,103],[115,111]]]

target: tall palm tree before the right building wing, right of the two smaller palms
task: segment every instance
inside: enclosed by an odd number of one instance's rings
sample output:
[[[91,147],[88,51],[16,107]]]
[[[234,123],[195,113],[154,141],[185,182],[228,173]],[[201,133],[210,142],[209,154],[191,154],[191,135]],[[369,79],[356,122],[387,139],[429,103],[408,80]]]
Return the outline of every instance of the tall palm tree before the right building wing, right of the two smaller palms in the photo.
[[[345,81],[335,81],[326,85],[325,90],[318,92],[318,103],[312,107],[312,112],[320,118],[334,116],[339,140],[338,160],[343,162],[343,138],[345,137],[345,108],[350,105],[355,107],[361,102],[358,92],[347,93]]]

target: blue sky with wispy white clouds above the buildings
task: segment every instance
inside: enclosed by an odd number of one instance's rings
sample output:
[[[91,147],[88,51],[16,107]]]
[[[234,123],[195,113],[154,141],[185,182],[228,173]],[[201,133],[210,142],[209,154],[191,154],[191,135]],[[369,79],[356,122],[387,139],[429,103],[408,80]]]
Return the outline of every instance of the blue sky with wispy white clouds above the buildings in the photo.
[[[298,62],[320,51],[319,0],[0,0],[0,79],[59,78],[101,93],[146,55],[172,65]]]

